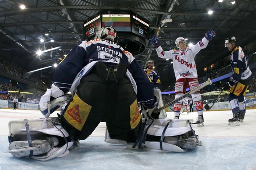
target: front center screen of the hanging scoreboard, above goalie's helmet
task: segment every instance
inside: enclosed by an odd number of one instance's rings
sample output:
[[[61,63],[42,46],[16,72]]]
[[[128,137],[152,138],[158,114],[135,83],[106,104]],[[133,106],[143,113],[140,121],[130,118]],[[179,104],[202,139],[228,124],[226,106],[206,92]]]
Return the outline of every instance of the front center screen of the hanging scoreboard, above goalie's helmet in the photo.
[[[117,32],[131,32],[130,14],[102,14],[102,27],[113,26]]]

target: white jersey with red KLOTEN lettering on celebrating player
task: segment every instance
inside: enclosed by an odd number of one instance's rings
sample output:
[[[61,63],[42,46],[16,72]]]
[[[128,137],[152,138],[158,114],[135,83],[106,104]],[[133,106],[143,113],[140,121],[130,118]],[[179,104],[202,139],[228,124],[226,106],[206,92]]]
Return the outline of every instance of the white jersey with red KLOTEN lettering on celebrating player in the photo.
[[[195,56],[201,50],[206,48],[208,40],[204,37],[197,44],[187,47],[186,50],[169,50],[164,51],[159,46],[156,51],[160,58],[173,60],[173,69],[176,80],[179,78],[197,78],[197,68],[195,63]]]

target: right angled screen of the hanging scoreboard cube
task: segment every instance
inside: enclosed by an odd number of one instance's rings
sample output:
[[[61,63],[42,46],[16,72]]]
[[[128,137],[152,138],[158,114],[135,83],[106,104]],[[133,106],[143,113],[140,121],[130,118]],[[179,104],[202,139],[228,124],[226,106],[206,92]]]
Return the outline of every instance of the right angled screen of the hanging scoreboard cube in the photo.
[[[149,24],[143,21],[142,18],[135,17],[132,15],[132,32],[142,36],[143,38],[149,39],[150,35]]]

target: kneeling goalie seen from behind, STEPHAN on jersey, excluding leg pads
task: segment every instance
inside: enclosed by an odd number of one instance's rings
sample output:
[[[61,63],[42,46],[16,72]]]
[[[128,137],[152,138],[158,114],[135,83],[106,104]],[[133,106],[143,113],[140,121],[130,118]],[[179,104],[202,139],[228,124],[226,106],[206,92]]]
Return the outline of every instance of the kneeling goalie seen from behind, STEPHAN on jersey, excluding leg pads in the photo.
[[[95,39],[75,46],[55,71],[51,97],[71,92],[61,124],[75,140],[88,138],[105,121],[110,138],[135,142],[141,127],[137,100],[149,110],[156,106],[153,85],[117,42],[116,30],[103,27]],[[40,106],[48,117],[50,112]]]

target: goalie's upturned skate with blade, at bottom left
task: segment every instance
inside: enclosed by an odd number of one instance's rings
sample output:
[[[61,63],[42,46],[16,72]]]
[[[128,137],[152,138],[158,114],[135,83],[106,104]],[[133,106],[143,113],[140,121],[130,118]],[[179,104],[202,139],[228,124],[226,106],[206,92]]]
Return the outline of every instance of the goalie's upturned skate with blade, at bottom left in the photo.
[[[29,156],[31,150],[33,150],[33,155],[40,155],[49,152],[54,145],[58,144],[56,141],[58,141],[56,137],[34,140],[32,147],[29,146],[28,141],[14,141],[10,143],[6,152],[10,152],[16,158]]]

